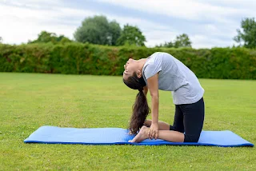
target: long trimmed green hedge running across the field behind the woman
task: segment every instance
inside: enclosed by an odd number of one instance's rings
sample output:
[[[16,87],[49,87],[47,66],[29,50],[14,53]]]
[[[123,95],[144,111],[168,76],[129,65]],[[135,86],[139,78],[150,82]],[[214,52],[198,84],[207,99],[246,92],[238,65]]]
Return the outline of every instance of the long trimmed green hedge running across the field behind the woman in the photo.
[[[154,52],[172,54],[198,78],[256,79],[256,50],[245,48],[146,48],[66,45],[0,45],[0,72],[122,75],[129,58],[146,58]]]

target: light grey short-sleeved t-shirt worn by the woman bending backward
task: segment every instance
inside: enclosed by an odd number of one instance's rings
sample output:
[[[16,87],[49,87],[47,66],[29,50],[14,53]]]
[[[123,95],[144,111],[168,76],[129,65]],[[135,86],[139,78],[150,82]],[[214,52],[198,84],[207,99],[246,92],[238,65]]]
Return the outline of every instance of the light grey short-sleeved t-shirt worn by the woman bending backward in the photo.
[[[171,91],[175,105],[195,103],[202,98],[204,89],[198,78],[172,55],[156,52],[147,58],[142,69],[145,82],[158,72],[158,88]]]

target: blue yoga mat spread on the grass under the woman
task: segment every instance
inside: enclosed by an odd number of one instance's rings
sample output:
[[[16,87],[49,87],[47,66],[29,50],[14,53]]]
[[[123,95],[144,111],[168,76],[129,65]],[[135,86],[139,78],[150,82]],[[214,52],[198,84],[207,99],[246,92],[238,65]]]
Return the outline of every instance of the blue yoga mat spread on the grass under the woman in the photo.
[[[30,137],[26,143],[46,144],[83,144],[83,145],[210,145],[222,147],[254,146],[237,134],[229,131],[202,131],[198,143],[169,142],[160,139],[146,139],[140,143],[130,143],[134,135],[129,135],[127,129],[121,128],[60,128],[56,126],[42,126]]]

